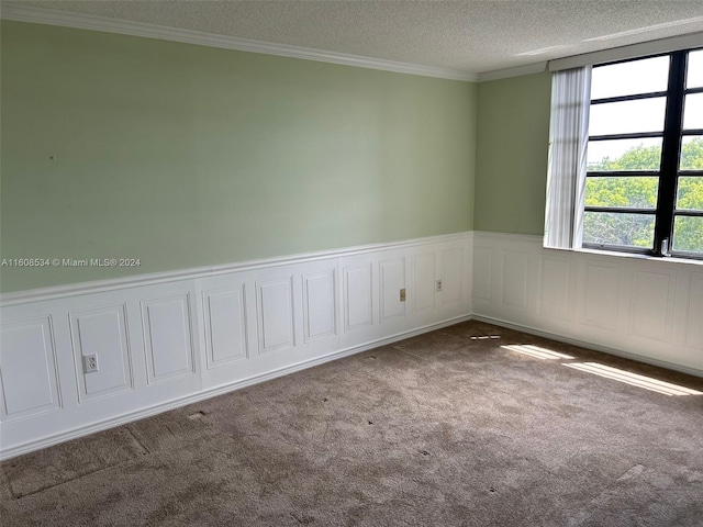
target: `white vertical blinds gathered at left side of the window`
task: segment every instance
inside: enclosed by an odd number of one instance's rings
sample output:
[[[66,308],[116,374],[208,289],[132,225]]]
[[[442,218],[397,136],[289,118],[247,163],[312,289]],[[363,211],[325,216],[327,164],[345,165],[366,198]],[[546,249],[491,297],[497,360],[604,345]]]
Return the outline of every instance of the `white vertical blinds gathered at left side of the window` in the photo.
[[[581,247],[590,100],[590,66],[555,71],[551,81],[545,247]]]

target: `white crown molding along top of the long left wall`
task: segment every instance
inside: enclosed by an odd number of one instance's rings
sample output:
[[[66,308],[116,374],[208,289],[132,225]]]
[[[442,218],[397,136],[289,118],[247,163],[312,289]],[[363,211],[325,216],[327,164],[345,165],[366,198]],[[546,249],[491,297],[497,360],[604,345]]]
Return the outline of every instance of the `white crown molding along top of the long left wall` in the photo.
[[[143,36],[146,38],[182,42],[200,46],[221,47],[224,49],[235,49],[238,52],[263,53],[266,55],[302,58],[305,60],[317,60],[322,63],[354,66],[358,68],[380,69],[383,71],[393,71],[397,74],[437,77],[440,79],[462,80],[469,82],[476,82],[478,80],[478,76],[476,74],[457,69],[437,68],[419,64],[399,63],[395,60],[383,60],[379,58],[362,57],[359,55],[325,52],[322,49],[313,49],[310,47],[292,46],[288,44],[275,44],[263,41],[254,41],[249,38],[239,38],[236,36],[215,35],[201,31],[167,27],[164,25],[110,19],[107,16],[97,16],[92,14],[71,13],[68,11],[36,8],[32,5],[21,5],[16,3],[3,4],[0,11],[0,18],[14,20],[18,22],[62,25],[65,27],[76,27],[81,30],[120,33],[123,35]]]

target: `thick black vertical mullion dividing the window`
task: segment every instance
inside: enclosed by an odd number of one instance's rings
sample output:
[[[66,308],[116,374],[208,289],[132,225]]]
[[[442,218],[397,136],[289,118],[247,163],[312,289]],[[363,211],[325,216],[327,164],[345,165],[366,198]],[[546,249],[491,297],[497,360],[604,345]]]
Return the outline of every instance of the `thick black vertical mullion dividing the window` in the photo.
[[[655,225],[655,247],[657,256],[667,256],[671,248],[673,233],[673,211],[677,199],[677,176],[681,152],[681,123],[685,83],[685,52],[671,55],[669,68],[669,96],[665,116],[661,153],[661,176],[657,197],[657,221]]]

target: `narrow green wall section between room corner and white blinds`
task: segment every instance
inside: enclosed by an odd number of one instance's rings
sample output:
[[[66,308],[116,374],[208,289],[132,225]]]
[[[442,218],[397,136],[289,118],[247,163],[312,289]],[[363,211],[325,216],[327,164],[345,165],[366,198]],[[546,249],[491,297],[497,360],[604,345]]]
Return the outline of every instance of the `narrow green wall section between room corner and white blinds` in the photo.
[[[473,227],[544,233],[549,72],[481,82]]]

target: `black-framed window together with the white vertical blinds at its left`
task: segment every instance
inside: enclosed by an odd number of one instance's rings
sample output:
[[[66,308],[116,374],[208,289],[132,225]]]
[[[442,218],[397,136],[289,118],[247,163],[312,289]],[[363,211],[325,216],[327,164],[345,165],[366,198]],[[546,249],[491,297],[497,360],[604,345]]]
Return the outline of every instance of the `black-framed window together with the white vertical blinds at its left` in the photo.
[[[545,245],[703,259],[703,49],[559,71],[554,87]]]

